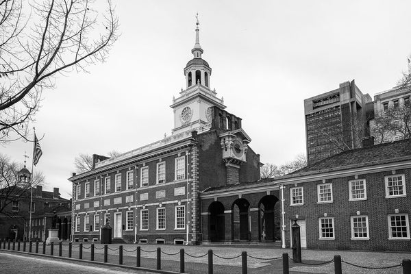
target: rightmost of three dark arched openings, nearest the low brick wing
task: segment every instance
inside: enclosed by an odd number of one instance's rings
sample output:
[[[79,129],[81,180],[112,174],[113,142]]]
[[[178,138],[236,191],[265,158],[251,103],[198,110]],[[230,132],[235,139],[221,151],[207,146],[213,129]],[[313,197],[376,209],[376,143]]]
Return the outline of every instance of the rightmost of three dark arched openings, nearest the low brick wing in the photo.
[[[279,225],[275,221],[275,204],[278,198],[274,195],[262,197],[258,203],[258,240],[273,242],[279,237]]]

